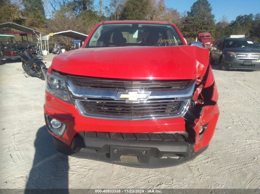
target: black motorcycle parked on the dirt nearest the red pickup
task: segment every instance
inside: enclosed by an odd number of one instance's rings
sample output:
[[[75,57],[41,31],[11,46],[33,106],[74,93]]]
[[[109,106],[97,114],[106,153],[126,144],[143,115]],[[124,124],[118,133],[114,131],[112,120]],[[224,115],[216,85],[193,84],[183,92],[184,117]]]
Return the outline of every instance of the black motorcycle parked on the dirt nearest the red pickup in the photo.
[[[38,59],[36,56],[23,51],[21,54],[22,68],[27,75],[36,76],[42,80],[45,80],[47,68],[46,65]]]

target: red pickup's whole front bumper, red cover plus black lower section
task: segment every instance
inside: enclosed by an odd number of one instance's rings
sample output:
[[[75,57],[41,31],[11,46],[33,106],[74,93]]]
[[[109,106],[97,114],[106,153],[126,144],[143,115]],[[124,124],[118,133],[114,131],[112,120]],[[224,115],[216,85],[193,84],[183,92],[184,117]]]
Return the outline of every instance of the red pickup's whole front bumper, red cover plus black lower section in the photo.
[[[215,91],[216,92],[216,91]],[[84,131],[114,132],[114,133],[153,133],[153,132],[169,132],[185,133],[185,120],[182,117],[154,120],[104,120],[82,116],[74,105],[68,104],[53,97],[46,92],[44,113],[52,118],[60,120],[66,124],[66,131],[62,137],[54,134],[47,126],[48,131],[54,137],[54,143],[61,143],[68,146],[74,156],[80,158],[91,158],[116,164],[139,166],[139,167],[160,167],[177,165],[187,160],[193,159],[194,155],[200,153],[209,144],[215,130],[218,120],[218,105],[204,106],[201,110],[201,116],[195,122],[193,133],[196,135],[194,143],[186,142],[154,142],[154,141],[108,141],[102,139],[93,139],[82,135]],[[199,137],[199,127],[207,124],[207,129],[202,136]],[[57,145],[58,145],[57,144]],[[57,147],[56,145],[56,147]],[[111,147],[122,149],[122,153],[132,150],[143,150],[149,153],[145,162],[122,162],[118,159],[110,157]],[[58,149],[59,150],[59,149]],[[125,151],[126,150],[126,151]],[[134,156],[141,158],[136,151],[132,153]],[[113,154],[115,155],[115,154]],[[124,154],[123,154],[124,155]],[[127,154],[125,154],[127,155]],[[167,157],[177,155],[178,159],[166,159]],[[165,158],[166,157],[166,158]],[[116,158],[120,158],[116,156]]]

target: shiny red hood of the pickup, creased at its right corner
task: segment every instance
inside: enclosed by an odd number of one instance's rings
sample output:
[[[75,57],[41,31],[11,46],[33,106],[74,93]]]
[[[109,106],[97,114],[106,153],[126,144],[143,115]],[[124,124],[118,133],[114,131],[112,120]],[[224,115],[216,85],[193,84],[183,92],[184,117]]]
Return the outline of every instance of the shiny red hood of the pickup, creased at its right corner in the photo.
[[[51,69],[121,79],[195,79],[206,72],[208,49],[197,46],[81,48],[57,55]]]

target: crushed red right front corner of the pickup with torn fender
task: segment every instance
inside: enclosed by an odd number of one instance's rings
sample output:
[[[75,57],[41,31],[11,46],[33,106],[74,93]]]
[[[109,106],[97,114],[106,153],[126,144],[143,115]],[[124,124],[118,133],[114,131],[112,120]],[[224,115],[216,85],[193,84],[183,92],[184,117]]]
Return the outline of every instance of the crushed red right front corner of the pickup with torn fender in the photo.
[[[218,121],[218,90],[214,81],[211,66],[207,68],[198,63],[200,73],[196,79],[193,102],[185,115],[186,131],[189,133],[190,143],[194,151],[206,147],[214,134]]]

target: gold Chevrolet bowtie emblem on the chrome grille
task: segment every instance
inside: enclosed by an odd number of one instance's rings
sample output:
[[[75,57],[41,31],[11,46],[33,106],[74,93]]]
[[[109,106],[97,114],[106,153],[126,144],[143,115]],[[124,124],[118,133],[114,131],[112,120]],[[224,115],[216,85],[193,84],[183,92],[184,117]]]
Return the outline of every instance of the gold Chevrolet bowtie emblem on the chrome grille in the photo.
[[[139,92],[139,90],[126,90],[126,92],[118,92],[116,100],[126,99],[126,102],[139,102],[140,100],[146,100],[151,92]]]

